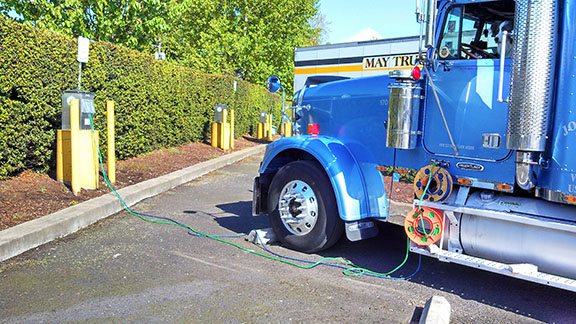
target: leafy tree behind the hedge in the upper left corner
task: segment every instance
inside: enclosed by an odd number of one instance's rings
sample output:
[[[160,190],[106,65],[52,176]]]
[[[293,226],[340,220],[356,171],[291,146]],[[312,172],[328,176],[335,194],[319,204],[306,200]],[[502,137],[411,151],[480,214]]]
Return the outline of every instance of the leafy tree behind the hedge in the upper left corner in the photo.
[[[150,50],[167,32],[168,0],[3,0],[0,13],[70,36]]]

